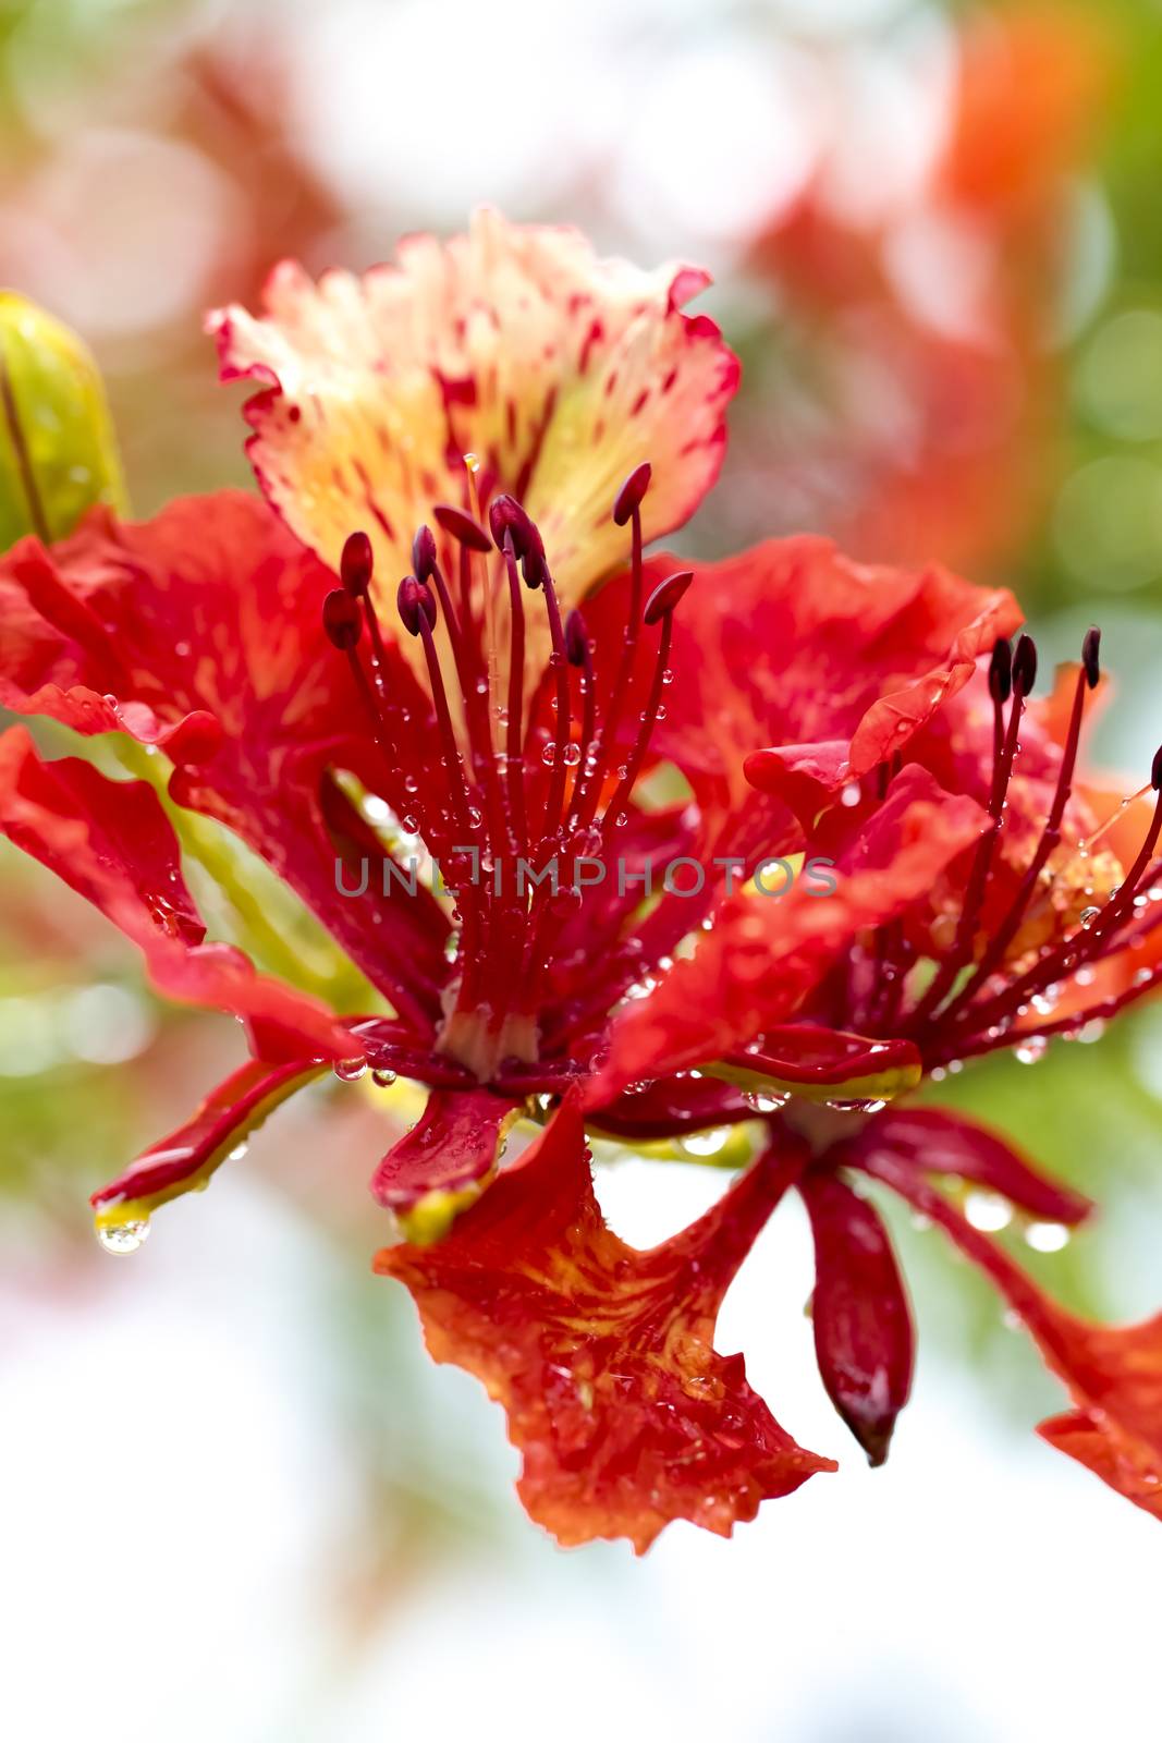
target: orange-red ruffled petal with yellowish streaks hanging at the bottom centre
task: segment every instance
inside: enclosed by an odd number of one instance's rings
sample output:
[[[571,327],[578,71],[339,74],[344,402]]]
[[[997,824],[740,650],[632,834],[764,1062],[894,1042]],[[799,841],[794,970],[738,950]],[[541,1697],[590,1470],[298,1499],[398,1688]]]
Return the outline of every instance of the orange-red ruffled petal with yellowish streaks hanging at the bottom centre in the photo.
[[[798,1447],[713,1347],[730,1279],[803,1154],[768,1152],[693,1227],[648,1253],[611,1234],[566,1103],[446,1241],[376,1269],[413,1292],[429,1349],[476,1373],[524,1454],[519,1494],[563,1544],[674,1518],[730,1536],[763,1499],[834,1469]]]

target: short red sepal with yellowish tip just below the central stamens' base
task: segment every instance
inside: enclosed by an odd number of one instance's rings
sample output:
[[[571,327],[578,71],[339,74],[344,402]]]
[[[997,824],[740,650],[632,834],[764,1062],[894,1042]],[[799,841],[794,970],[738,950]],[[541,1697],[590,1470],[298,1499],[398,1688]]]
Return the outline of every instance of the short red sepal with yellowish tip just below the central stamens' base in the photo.
[[[395,1213],[408,1241],[441,1239],[497,1173],[517,1103],[490,1089],[437,1089],[411,1131],[392,1145],[371,1192]]]

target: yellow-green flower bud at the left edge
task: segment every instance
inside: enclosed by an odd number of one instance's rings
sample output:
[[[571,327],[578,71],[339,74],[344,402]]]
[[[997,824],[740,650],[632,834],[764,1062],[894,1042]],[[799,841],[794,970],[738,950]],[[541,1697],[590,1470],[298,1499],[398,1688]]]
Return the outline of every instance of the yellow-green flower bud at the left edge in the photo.
[[[0,551],[71,533],[85,509],[125,511],[105,385],[85,345],[16,291],[0,291]]]

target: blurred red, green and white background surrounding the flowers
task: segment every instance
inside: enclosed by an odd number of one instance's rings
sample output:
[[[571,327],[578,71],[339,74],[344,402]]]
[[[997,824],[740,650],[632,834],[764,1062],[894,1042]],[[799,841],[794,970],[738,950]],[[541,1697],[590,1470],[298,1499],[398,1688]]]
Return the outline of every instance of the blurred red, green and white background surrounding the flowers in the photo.
[[[721,553],[831,530],[1014,582],[1094,755],[1162,741],[1162,5],[937,0],[0,0],[0,282],[106,373],[134,509],[244,483],[204,307],[491,200],[709,265],[744,357]],[[1157,1736],[1157,1525],[1033,1440],[1057,1389],[897,1225],[922,1326],[890,1464],[812,1373],[786,1206],[721,1323],[838,1478],[645,1563],[524,1522],[500,1414],[373,1279],[364,1177],[406,1105],[322,1088],[132,1260],[87,1194],[232,1060],[118,936],[0,852],[0,1724],[7,1736],[732,1743]],[[1162,1011],[934,1093],[1105,1203],[1030,1255],[1162,1299]],[[719,1189],[599,1182],[646,1243]]]

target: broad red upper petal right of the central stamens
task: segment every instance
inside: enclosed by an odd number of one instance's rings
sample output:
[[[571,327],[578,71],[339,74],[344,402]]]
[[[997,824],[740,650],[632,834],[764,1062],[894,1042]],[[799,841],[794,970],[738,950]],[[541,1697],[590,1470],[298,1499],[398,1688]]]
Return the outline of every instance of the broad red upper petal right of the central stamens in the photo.
[[[672,556],[653,558],[646,587],[676,566]],[[742,776],[749,753],[760,753],[747,765],[758,786],[789,804],[808,781],[819,810],[821,791],[902,749],[967,683],[977,654],[1021,622],[1003,589],[939,568],[852,563],[826,539],[768,540],[693,573],[674,615],[674,683],[652,751],[683,770],[706,810],[733,810],[739,826],[756,809]],[[599,675],[615,669],[624,622],[618,580],[585,607]]]

